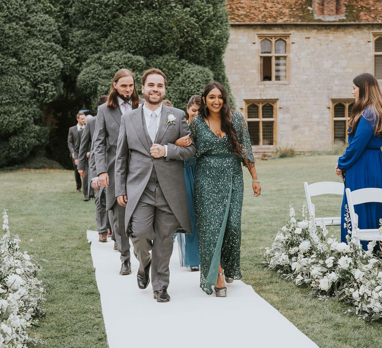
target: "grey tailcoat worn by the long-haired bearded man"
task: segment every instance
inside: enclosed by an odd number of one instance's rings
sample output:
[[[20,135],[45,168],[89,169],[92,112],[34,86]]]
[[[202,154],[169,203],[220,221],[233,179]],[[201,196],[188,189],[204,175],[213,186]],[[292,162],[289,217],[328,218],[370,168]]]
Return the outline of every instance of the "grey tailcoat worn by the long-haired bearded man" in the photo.
[[[121,123],[119,107],[98,106],[94,132],[94,156],[97,175],[107,173],[109,186],[106,188],[106,209],[110,210],[116,202],[114,183],[115,151]]]

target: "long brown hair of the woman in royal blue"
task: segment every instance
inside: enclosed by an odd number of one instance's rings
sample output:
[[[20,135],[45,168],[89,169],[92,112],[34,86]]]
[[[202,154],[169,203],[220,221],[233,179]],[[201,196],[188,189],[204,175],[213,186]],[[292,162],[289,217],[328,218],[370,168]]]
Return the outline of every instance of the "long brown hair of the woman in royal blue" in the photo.
[[[371,121],[374,134],[381,136],[382,93],[377,79],[372,74],[363,73],[354,78],[353,84],[359,88],[359,95],[350,113],[349,127],[352,127],[352,129],[348,130],[348,134],[356,132],[362,113],[366,108],[370,107],[373,112]]]

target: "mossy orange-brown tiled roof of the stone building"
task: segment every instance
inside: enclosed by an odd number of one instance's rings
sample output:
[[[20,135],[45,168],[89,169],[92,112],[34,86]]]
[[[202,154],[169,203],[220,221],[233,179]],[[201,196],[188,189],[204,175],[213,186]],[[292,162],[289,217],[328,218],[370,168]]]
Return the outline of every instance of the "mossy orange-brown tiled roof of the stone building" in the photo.
[[[306,23],[315,19],[312,0],[226,0],[231,23]],[[381,0],[344,0],[345,19],[338,22],[382,23]]]

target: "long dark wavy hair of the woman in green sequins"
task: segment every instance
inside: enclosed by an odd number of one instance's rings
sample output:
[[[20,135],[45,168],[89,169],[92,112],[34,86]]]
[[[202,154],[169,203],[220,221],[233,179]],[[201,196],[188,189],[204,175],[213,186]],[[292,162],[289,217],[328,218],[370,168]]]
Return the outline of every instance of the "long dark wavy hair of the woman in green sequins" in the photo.
[[[210,90],[215,87],[220,90],[221,95],[223,96],[223,107],[221,109],[221,130],[228,135],[228,142],[231,145],[232,154],[235,156],[243,156],[243,148],[240,145],[239,140],[237,139],[236,130],[232,124],[232,112],[229,107],[228,93],[225,90],[225,88],[218,82],[209,82],[204,87],[203,93],[201,93],[201,105],[199,109],[200,115],[204,118],[208,118],[209,110],[204,100],[207,98],[207,95],[210,92]]]

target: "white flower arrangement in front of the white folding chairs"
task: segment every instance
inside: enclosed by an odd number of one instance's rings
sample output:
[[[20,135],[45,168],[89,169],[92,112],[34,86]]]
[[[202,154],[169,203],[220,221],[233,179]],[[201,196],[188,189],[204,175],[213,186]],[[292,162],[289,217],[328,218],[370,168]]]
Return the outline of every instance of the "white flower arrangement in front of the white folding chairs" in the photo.
[[[380,252],[377,257],[373,253],[376,242],[363,250],[358,228],[351,234],[348,214],[348,244],[339,243],[334,236],[327,238],[325,226],[316,228],[314,221],[308,222],[306,203],[302,215],[303,221],[296,222],[294,209],[289,207],[289,222],[277,232],[272,247],[266,248],[266,267],[296,285],[309,286],[319,299],[352,304],[349,311],[362,319],[382,319],[382,260]],[[382,227],[380,230],[382,233]]]

